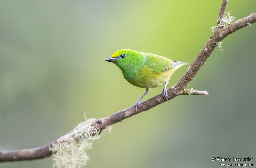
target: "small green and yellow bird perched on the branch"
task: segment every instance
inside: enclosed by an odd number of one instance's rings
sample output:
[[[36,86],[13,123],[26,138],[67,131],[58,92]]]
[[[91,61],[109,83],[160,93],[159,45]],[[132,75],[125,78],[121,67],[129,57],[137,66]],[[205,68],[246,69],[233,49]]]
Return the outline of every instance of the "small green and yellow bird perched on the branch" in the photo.
[[[112,57],[106,59],[121,69],[124,78],[134,86],[145,88],[145,93],[133,105],[137,114],[141,100],[150,88],[164,85],[162,97],[169,102],[166,86],[171,75],[187,62],[174,61],[169,58],[151,53],[130,49],[117,50]]]

